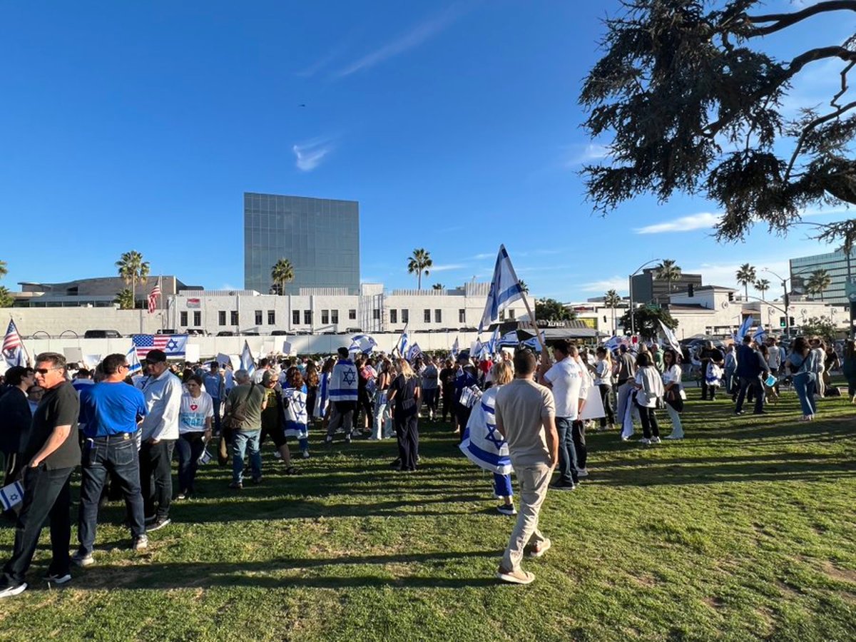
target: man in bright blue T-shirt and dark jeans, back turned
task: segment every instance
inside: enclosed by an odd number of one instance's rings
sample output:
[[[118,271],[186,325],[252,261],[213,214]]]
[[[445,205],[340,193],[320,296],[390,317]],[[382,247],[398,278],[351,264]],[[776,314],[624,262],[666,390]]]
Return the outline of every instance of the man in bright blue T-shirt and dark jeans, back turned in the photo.
[[[128,507],[134,550],[148,546],[143,496],[140,491],[140,459],[137,431],[146,415],[143,393],[125,383],[128,363],[124,354],[109,354],[101,365],[104,380],[80,391],[80,415],[86,425],[80,467],[80,513],[77,538],[80,548],[72,560],[89,566],[98,524],[98,499],[108,471],[118,481]]]

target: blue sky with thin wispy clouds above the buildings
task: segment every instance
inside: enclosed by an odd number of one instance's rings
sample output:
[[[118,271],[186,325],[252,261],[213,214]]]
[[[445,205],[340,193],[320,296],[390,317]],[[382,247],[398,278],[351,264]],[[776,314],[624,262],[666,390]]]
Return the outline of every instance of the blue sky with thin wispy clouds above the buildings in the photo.
[[[434,259],[424,282],[452,286],[488,279],[505,243],[533,294],[565,301],[626,292],[649,259],[734,285],[746,261],[783,273],[827,251],[800,228],[716,243],[702,199],[591,215],[577,171],[606,141],[586,138],[577,98],[616,6],[4,3],[3,284],[112,274],[136,249],[154,274],[241,286],[245,191],[359,200],[362,278],[389,288],[415,287],[414,247]],[[770,47],[854,26],[823,18]],[[816,63],[786,106],[837,80]]]

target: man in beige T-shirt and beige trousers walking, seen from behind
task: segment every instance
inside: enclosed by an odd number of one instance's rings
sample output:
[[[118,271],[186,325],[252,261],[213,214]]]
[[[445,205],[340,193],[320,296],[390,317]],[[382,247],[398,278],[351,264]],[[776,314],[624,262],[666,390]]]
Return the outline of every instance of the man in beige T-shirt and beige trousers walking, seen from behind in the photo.
[[[558,461],[556,403],[550,389],[535,383],[534,372],[535,355],[521,350],[514,355],[514,381],[496,393],[496,431],[508,442],[520,484],[520,513],[496,577],[513,584],[535,579],[520,568],[524,553],[540,557],[550,548],[550,540],[538,531],[538,511]]]

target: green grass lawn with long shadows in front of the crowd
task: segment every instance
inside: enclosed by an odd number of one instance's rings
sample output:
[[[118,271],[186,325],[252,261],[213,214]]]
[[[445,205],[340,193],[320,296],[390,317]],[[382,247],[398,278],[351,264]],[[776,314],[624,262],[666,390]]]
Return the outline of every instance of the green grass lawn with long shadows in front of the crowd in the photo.
[[[856,639],[856,407],[800,424],[793,392],[740,418],[688,393],[683,442],[589,435],[591,476],[544,503],[531,586],[494,579],[512,519],[448,425],[422,425],[413,474],[389,469],[394,441],[324,449],[316,431],[300,477],[270,443],[240,493],[209,464],[144,555],[110,504],[68,588],[39,580],[45,532],[0,638]],[[4,523],[0,555],[12,540]]]

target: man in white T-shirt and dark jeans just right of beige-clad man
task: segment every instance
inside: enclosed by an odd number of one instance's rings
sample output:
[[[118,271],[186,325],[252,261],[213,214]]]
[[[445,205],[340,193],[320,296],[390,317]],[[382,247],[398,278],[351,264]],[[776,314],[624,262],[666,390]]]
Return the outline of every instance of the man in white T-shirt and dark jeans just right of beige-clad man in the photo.
[[[540,383],[553,390],[556,399],[556,431],[559,434],[559,479],[550,486],[556,490],[574,490],[580,483],[577,452],[574,448],[574,422],[586,401],[587,377],[576,360],[577,349],[566,340],[553,347],[556,363],[541,375]],[[544,365],[542,365],[542,369]]]

